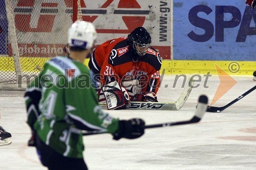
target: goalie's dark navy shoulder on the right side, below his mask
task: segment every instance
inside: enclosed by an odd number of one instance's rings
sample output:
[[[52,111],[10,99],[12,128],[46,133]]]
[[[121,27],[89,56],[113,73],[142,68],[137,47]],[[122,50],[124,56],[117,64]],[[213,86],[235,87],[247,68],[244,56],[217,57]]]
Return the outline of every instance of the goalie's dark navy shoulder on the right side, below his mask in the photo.
[[[153,47],[150,47],[147,50],[145,56],[142,58],[142,61],[152,65],[156,70],[159,70],[162,66],[161,56]]]

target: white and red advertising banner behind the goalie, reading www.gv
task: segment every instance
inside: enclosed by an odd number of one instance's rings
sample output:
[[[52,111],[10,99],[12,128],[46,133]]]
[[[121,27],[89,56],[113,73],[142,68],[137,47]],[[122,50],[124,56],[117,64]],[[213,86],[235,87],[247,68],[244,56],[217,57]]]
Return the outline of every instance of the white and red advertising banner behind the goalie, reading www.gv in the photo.
[[[170,59],[172,1],[94,0],[81,1],[83,20],[91,21],[99,33],[96,43],[126,37],[144,27],[152,37],[152,46],[163,59]]]

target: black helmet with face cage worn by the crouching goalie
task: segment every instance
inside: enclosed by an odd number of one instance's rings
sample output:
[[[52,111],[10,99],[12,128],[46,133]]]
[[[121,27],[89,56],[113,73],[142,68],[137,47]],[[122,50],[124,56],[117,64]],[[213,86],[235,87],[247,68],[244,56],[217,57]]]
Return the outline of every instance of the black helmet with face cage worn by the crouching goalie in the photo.
[[[151,47],[151,36],[143,27],[138,27],[131,34],[128,35],[127,39],[130,47],[139,56],[144,56],[148,48]]]

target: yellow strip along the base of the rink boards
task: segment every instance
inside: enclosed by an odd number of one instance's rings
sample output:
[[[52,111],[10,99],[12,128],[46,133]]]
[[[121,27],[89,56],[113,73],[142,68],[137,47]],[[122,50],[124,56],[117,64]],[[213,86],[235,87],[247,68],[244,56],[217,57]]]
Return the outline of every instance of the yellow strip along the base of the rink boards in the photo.
[[[22,57],[20,62],[23,71],[39,71],[50,58],[33,58]],[[84,61],[88,66],[89,59]],[[1,71],[15,71],[12,57],[0,56]],[[26,64],[24,64],[26,63]],[[27,64],[28,63],[28,64]],[[41,63],[41,64],[36,64]],[[236,64],[239,64],[236,65]],[[181,75],[181,74],[202,74],[205,75],[210,71],[211,75],[217,75],[215,65],[218,65],[230,75],[252,76],[256,70],[256,61],[195,61],[195,60],[163,60],[160,74],[164,70],[166,75]],[[230,71],[230,69],[231,71]],[[233,69],[233,70],[232,70]]]

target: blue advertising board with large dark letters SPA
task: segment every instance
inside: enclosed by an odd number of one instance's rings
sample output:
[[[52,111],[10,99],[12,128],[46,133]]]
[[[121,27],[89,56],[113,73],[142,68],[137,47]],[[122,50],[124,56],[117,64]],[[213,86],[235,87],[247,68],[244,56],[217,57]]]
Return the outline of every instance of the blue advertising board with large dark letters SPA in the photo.
[[[173,3],[174,60],[256,61],[256,9],[245,1]]]

